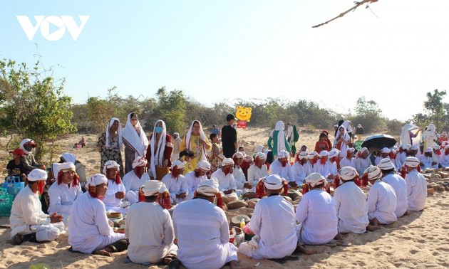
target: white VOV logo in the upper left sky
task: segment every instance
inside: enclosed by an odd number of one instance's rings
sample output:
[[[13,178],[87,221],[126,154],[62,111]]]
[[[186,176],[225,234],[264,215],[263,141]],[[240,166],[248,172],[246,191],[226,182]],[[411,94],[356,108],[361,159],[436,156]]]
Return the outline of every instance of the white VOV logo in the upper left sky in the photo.
[[[78,36],[80,36],[81,31],[83,31],[84,26],[88,21],[90,16],[78,16],[81,23],[78,26],[75,19],[72,16],[34,16],[36,24],[31,23],[28,16],[16,16],[17,21],[19,21],[20,26],[24,29],[26,36],[29,41],[33,40],[38,29],[41,29],[41,35],[48,41],[58,41],[66,33],[72,36],[73,40],[76,41]],[[51,24],[53,28],[57,28],[55,31],[50,33]]]

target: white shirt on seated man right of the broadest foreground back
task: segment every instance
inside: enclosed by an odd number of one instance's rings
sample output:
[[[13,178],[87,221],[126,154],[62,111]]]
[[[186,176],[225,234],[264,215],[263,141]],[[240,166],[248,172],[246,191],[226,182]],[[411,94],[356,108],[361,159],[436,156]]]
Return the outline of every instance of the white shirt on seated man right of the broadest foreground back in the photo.
[[[249,226],[260,237],[259,247],[252,253],[254,259],[284,258],[297,246],[294,209],[282,196],[257,202]]]

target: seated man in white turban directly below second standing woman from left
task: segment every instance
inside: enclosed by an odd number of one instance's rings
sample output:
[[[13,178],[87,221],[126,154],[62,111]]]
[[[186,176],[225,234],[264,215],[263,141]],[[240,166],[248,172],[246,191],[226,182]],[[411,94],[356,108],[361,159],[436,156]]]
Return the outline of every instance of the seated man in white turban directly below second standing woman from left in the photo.
[[[147,167],[147,160],[144,157],[136,157],[133,162],[133,170],[123,176],[123,185],[125,185],[126,194],[130,204],[135,204],[139,201],[139,188],[146,181],[150,180],[150,175],[145,173]]]

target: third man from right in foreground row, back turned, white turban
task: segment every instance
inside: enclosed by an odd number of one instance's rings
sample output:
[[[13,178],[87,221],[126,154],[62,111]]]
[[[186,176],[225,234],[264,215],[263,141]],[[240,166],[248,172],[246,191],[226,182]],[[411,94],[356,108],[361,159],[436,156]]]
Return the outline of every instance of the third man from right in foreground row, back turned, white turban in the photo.
[[[396,210],[396,194],[389,184],[382,182],[381,169],[370,165],[365,174],[368,182],[373,185],[368,192],[368,219],[373,229],[380,224],[390,224],[398,220],[394,211]]]

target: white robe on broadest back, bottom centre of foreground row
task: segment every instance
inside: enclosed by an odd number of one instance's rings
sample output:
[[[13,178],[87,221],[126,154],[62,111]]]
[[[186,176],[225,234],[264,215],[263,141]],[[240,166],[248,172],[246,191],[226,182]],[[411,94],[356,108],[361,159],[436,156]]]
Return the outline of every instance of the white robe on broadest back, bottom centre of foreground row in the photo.
[[[229,243],[229,226],[224,211],[205,199],[176,206],[173,223],[177,258],[187,268],[222,268],[237,260],[237,248]]]

